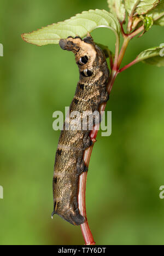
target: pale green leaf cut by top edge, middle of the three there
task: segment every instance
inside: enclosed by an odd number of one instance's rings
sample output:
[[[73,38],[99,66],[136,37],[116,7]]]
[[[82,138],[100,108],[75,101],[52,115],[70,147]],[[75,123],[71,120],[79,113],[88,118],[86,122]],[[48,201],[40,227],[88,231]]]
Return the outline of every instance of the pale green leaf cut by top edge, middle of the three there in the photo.
[[[147,14],[159,4],[160,0],[125,0],[125,8],[130,15],[132,10],[134,14]]]

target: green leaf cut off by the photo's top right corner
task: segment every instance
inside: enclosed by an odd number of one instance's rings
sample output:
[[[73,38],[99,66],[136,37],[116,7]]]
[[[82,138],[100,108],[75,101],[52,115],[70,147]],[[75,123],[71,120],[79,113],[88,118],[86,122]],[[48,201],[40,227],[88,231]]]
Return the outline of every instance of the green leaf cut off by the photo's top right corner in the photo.
[[[164,26],[164,0],[160,1],[157,7],[148,13],[148,16],[153,18],[155,25]]]

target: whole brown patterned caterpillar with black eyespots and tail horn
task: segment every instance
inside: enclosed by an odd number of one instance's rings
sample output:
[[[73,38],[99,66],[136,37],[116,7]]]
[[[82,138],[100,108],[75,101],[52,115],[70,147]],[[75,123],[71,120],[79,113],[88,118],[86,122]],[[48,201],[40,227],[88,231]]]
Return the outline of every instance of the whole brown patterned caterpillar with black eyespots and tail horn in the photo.
[[[101,103],[108,101],[106,86],[109,80],[109,68],[103,51],[91,36],[84,39],[68,37],[61,39],[60,47],[72,51],[79,67],[80,78],[75,96],[69,108],[68,118],[58,141],[53,177],[54,214],[67,220],[73,225],[85,222],[78,208],[79,176],[88,168],[83,160],[84,151],[92,145],[90,139],[89,119],[85,120],[87,129],[66,129],[76,117],[71,113],[78,111],[80,120],[84,121],[83,112],[99,113]],[[81,124],[81,123],[80,123]],[[93,118],[93,125],[96,119]]]

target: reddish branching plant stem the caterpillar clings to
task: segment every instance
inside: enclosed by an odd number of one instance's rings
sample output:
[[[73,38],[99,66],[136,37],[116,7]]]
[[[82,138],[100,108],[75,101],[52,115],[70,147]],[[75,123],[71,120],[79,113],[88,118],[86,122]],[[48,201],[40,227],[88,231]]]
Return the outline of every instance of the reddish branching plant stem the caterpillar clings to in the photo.
[[[137,63],[136,60],[134,60],[133,62],[131,62],[130,64],[128,64],[127,66],[125,66],[124,68],[119,70],[119,67],[120,67],[122,59],[125,55],[125,51],[128,46],[128,43],[134,36],[137,36],[137,34],[142,32],[143,29],[144,28],[141,27],[141,28],[138,28],[138,30],[132,32],[131,34],[125,34],[124,43],[122,45],[120,54],[118,54],[119,53],[119,38],[116,38],[115,60],[114,60],[114,65],[112,65],[113,66],[112,73],[110,74],[109,82],[107,84],[107,91],[108,91],[109,95],[110,95],[110,92],[112,91],[116,76],[121,71],[124,71],[126,68],[132,66],[134,63]],[[99,107],[99,111],[104,112],[106,105],[107,105],[107,103],[102,103],[101,106]],[[92,149],[96,142],[98,130],[99,130],[99,124],[94,126],[93,130],[90,132],[90,138],[93,142],[92,146],[90,148],[86,149],[84,152],[84,161],[85,161],[85,165],[87,167],[89,167]],[[79,194],[78,194],[79,210],[80,210],[81,215],[83,215],[85,217],[85,223],[81,224],[81,231],[82,231],[82,234],[84,237],[85,245],[95,245],[95,241],[93,239],[91,230],[89,228],[89,224],[87,222],[87,217],[86,217],[86,205],[85,205],[86,179],[87,179],[87,172],[84,172],[83,174],[81,174],[80,179],[79,179]]]

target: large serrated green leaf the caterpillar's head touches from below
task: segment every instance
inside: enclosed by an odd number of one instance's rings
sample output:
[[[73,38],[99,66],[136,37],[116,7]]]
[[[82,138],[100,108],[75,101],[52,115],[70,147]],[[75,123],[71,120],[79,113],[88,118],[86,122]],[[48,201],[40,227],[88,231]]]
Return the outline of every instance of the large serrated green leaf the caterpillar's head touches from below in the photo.
[[[68,36],[84,37],[99,26],[110,27],[115,33],[120,34],[118,19],[106,10],[89,10],[77,14],[69,20],[43,27],[31,33],[22,34],[22,39],[27,43],[36,45],[58,44],[60,39]]]

